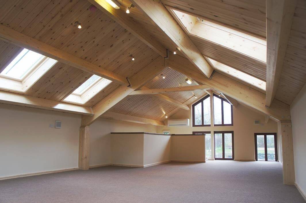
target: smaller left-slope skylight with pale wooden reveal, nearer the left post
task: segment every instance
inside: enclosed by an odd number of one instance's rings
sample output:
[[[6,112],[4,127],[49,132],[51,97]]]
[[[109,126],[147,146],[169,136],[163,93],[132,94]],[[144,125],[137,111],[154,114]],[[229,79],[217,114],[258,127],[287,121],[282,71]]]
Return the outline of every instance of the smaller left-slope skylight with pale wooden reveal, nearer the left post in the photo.
[[[106,78],[102,78],[98,75],[92,75],[63,101],[69,103],[84,104],[111,82],[112,81]]]

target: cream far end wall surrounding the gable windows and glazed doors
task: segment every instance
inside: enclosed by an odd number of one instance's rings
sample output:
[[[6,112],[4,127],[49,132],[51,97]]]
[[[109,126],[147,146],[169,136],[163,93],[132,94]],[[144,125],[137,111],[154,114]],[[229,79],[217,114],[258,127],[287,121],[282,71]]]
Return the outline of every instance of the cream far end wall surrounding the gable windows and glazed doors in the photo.
[[[192,127],[192,105],[190,110],[181,110],[169,119],[190,119],[190,126],[158,126],[158,133],[170,129],[172,134],[190,134],[192,131],[234,131],[234,155],[238,160],[255,160],[254,133],[255,132],[277,132],[277,123],[269,120],[264,123],[265,118],[247,107],[238,105],[233,107],[233,126]],[[254,120],[260,120],[261,125],[254,125]]]

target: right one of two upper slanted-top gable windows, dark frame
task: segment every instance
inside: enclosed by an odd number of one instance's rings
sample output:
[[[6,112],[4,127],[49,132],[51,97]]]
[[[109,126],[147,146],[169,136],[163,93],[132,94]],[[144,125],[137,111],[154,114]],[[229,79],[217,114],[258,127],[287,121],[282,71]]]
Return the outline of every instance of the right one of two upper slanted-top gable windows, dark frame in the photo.
[[[214,104],[214,125],[233,125],[233,107],[224,98],[215,95],[213,96]]]

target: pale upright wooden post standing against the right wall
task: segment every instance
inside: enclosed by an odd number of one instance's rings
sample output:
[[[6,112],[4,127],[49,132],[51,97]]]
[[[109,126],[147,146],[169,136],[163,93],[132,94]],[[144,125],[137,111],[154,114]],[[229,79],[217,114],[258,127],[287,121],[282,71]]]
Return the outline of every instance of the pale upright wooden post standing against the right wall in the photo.
[[[286,185],[294,185],[294,159],[293,159],[293,138],[292,138],[292,125],[290,120],[278,121],[281,128],[282,137],[282,155],[283,155],[283,183]]]

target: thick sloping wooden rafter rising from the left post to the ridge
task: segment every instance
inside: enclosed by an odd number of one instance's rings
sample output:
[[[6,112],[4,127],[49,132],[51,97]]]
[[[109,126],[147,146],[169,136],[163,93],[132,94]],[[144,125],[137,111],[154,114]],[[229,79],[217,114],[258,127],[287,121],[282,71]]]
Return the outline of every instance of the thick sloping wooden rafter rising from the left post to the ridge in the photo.
[[[95,114],[93,116],[82,116],[81,126],[90,125],[96,119],[98,119],[107,110],[113,107],[116,103],[124,99],[135,89],[140,88],[146,82],[152,80],[157,75],[159,75],[167,67],[167,62],[165,59],[159,56],[141,71],[137,72],[130,80],[133,84],[132,87],[126,87],[124,85],[119,86],[109,95],[107,95],[103,100],[99,101],[95,106],[92,107]]]

